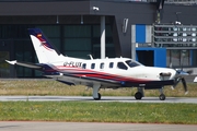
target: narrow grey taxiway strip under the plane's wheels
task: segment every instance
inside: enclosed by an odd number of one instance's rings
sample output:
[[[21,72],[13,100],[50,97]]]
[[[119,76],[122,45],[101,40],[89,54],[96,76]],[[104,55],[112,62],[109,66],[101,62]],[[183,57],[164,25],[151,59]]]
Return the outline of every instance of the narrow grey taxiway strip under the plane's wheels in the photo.
[[[160,100],[159,97],[143,97],[141,100],[136,100],[129,96],[103,96],[101,100],[94,100],[92,96],[0,96],[0,102],[67,102],[67,100],[83,100],[83,102],[121,102],[121,103],[186,103],[197,104],[197,97],[166,97],[165,100]]]

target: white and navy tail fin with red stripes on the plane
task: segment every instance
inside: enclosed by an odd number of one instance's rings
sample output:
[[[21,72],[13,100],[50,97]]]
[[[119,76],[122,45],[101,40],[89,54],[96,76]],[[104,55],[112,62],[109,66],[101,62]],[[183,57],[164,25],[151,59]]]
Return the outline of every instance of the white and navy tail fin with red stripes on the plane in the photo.
[[[39,28],[28,28],[28,33],[39,63],[56,62],[59,60],[59,51],[49,43]]]

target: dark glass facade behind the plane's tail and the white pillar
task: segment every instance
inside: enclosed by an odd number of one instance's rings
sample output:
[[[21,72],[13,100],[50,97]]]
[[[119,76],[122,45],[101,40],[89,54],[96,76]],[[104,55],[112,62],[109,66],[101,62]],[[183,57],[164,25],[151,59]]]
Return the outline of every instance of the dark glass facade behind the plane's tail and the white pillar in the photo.
[[[42,72],[23,67],[12,67],[4,62],[19,60],[37,62],[27,28],[40,28],[48,39],[63,55],[90,59],[101,57],[100,25],[0,25],[0,76],[33,78]],[[115,57],[111,26],[106,25],[106,56]]]

